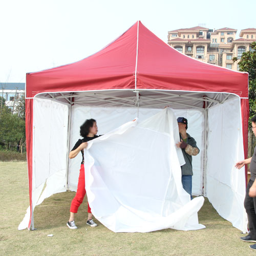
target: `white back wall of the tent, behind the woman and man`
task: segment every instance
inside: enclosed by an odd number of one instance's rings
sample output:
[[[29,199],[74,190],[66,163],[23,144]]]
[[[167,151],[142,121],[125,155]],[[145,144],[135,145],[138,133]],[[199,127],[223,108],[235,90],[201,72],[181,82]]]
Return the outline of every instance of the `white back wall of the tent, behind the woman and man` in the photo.
[[[98,134],[105,134],[136,117],[139,117],[139,122],[141,122],[159,111],[161,109],[72,106],[70,150],[72,150],[76,141],[81,138],[79,127],[86,119],[96,119]],[[193,195],[199,196],[202,195],[203,185],[204,111],[174,109],[173,111],[177,117],[183,116],[188,119],[187,132],[196,139],[200,148],[199,155],[193,157]],[[77,188],[80,163],[80,155],[69,161],[68,188],[73,191],[76,191]]]

